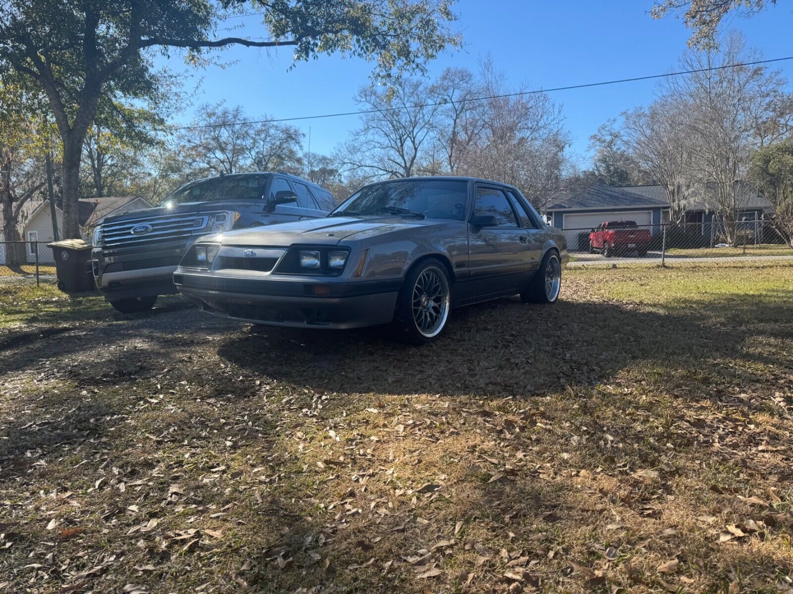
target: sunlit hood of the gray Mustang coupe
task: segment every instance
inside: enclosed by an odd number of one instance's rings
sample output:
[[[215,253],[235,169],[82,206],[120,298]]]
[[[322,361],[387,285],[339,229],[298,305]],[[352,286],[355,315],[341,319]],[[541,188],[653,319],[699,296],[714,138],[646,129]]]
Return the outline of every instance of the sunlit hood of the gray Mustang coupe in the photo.
[[[226,246],[291,246],[312,243],[335,246],[344,239],[361,239],[393,231],[439,225],[449,221],[438,219],[407,219],[399,216],[358,217],[331,216],[280,223],[267,227],[228,231],[220,236]]]

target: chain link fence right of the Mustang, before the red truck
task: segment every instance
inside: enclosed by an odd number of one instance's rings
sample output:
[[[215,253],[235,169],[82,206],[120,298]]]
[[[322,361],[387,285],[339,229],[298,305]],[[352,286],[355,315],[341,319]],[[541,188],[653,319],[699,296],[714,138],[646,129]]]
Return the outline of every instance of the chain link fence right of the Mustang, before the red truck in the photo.
[[[563,229],[573,264],[622,261],[722,261],[791,258],[793,221],[741,220],[638,225],[604,220],[597,227]]]

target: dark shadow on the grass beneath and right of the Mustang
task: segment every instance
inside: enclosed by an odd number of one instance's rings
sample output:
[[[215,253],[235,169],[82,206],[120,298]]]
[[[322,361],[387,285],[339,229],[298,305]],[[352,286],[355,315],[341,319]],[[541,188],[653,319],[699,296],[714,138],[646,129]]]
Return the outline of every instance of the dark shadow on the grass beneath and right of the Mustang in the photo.
[[[793,291],[788,296],[793,299]],[[721,319],[723,312],[734,319]],[[759,335],[789,340],[789,326],[774,324],[787,315],[779,299],[760,303],[756,296],[711,301],[707,310],[666,311],[578,301],[541,307],[501,299],[454,310],[446,336],[419,348],[395,343],[382,328],[261,328],[232,334],[218,354],[257,375],[316,390],[519,397],[608,382],[632,363],[670,372],[707,371],[732,357],[785,366],[782,356],[748,343]]]

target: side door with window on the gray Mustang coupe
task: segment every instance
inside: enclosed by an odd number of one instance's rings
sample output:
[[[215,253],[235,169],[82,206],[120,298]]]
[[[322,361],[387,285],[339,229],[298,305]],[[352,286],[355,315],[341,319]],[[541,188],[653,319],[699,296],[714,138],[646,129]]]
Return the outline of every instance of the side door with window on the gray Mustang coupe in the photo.
[[[473,299],[514,295],[531,270],[527,231],[518,223],[504,188],[477,184],[473,215],[492,215],[493,227],[468,230],[468,266]]]

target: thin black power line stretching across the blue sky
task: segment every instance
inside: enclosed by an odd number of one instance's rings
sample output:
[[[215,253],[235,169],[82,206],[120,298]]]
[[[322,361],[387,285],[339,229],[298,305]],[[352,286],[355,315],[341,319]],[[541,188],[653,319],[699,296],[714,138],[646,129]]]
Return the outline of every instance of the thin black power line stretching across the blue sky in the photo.
[[[462,104],[462,103],[469,103],[472,101],[488,101],[489,99],[504,99],[507,97],[522,97],[524,95],[534,95],[538,93],[553,93],[555,91],[567,91],[573,89],[588,89],[590,87],[595,86],[607,86],[607,85],[617,85],[623,82],[638,82],[638,81],[648,81],[653,80],[653,78],[667,78],[672,76],[681,76],[683,74],[697,74],[699,72],[711,72],[713,70],[725,70],[727,68],[738,68],[738,67],[745,67],[745,66],[757,66],[758,64],[768,64],[773,62],[783,62],[784,60],[793,59],[793,55],[788,55],[784,58],[772,58],[767,60],[757,60],[755,62],[743,62],[743,63],[736,63],[736,64],[724,64],[722,66],[712,66],[707,68],[696,68],[694,70],[679,70],[677,72],[667,72],[665,74],[648,74],[646,76],[635,76],[632,78],[618,78],[611,81],[601,81],[601,82],[587,82],[580,85],[568,85],[568,86],[556,86],[551,89],[532,89],[530,91],[518,91],[516,93],[503,93],[500,95],[485,95],[482,97],[469,97],[467,99],[460,99],[458,101],[434,101],[431,103],[422,103],[416,105],[400,105],[397,107],[389,107],[383,109],[360,109],[354,112],[336,112],[336,113],[324,113],[317,116],[294,116],[294,117],[281,117],[281,118],[270,118],[267,120],[248,120],[244,122],[229,122],[228,124],[197,124],[191,126],[171,126],[170,124],[165,126],[164,128],[150,128],[153,131],[178,131],[178,130],[197,130],[200,128],[224,128],[226,126],[247,126],[251,124],[274,124],[277,122],[297,122],[301,120],[320,120],[329,117],[343,117],[343,116],[362,116],[366,115],[367,113],[387,113],[387,112],[396,112],[402,109],[423,109],[427,107],[439,107],[441,105],[450,105],[450,104]]]

